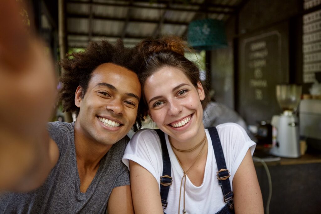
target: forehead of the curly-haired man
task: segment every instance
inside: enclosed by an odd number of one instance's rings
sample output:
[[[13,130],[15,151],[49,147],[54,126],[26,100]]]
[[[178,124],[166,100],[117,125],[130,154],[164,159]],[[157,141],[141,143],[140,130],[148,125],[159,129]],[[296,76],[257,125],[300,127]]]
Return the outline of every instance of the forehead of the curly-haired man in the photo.
[[[95,87],[98,83],[108,83],[117,90],[140,96],[141,85],[137,74],[113,63],[101,64],[92,72],[89,88]]]

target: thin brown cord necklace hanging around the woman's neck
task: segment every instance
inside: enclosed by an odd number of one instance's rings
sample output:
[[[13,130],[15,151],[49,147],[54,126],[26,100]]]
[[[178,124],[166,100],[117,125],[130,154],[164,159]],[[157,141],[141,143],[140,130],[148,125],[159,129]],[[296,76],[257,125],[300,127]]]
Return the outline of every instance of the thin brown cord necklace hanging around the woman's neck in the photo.
[[[181,164],[181,162],[179,161],[179,158],[177,157],[175,151],[173,150],[173,152],[174,152],[174,154],[175,154],[175,157],[176,157],[176,159],[178,160],[179,166],[182,168],[183,174],[184,174],[183,177],[182,177],[182,180],[181,180],[180,188],[179,188],[178,214],[179,214],[179,208],[180,208],[180,199],[181,199],[181,193],[182,193],[183,179],[185,178],[185,180],[184,180],[184,206],[183,206],[183,213],[186,213],[186,210],[185,210],[185,184],[186,184],[186,174],[187,174],[187,172],[194,166],[194,164],[196,163],[197,159],[201,156],[202,151],[203,151],[203,149],[204,149],[204,147],[205,147],[206,141],[207,141],[207,139],[206,139],[206,133],[205,133],[205,136],[204,136],[203,140],[202,140],[200,143],[198,143],[195,147],[193,147],[192,149],[189,149],[189,150],[178,150],[178,149],[176,149],[176,148],[172,145],[171,141],[169,140],[170,146],[171,146],[174,150],[181,151],[181,152],[194,151],[196,148],[198,148],[200,145],[202,145],[202,143],[204,143],[201,151],[198,153],[198,155],[197,155],[197,157],[195,158],[193,164],[192,164],[186,171],[184,171],[184,169],[183,169],[183,167],[182,167],[182,164]]]

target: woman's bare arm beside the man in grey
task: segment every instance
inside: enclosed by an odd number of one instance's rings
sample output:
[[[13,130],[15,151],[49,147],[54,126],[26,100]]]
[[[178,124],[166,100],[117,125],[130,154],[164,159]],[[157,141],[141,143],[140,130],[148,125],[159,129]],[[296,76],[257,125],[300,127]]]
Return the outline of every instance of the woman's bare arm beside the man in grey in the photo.
[[[154,176],[134,161],[129,161],[130,185],[135,213],[163,213],[158,183]]]

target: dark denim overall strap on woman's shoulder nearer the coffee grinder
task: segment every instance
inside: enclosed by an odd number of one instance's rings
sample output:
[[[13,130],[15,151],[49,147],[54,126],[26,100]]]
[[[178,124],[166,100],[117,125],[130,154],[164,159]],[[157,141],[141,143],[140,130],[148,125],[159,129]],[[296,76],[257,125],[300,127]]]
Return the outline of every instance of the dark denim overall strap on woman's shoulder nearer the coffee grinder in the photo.
[[[231,210],[233,210],[234,209],[233,192],[231,190],[230,179],[229,179],[230,172],[226,167],[220,137],[215,127],[208,128],[208,131],[211,136],[217,168],[219,170],[216,173],[216,175],[217,175],[217,179],[219,180],[219,184],[222,188],[222,192],[224,195],[224,202],[227,203],[227,205],[230,207]]]

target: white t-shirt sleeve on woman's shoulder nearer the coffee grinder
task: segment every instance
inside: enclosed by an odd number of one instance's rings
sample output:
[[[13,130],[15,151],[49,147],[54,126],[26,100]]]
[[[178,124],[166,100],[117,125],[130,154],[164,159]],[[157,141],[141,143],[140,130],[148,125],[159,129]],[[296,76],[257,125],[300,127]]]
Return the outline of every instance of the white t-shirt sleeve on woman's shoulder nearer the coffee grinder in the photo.
[[[247,150],[250,149],[251,155],[253,155],[256,143],[238,124],[226,123],[218,125],[216,128],[220,136],[226,165],[230,169],[231,179],[233,180]]]

